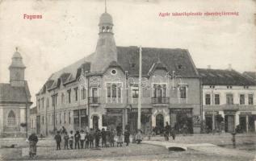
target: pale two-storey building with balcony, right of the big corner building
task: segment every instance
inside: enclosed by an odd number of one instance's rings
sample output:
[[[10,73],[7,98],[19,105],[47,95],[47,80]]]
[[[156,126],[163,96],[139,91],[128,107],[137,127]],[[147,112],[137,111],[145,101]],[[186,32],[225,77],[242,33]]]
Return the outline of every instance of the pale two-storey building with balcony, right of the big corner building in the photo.
[[[203,118],[208,132],[256,131],[256,84],[229,68],[198,69],[202,77]]]

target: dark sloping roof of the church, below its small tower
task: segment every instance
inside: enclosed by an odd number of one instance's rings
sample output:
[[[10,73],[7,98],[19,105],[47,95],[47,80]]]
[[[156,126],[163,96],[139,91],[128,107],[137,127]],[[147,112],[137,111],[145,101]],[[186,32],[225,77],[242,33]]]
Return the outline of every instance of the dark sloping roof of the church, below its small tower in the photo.
[[[29,103],[30,97],[24,87],[14,87],[10,84],[0,84],[0,102]]]

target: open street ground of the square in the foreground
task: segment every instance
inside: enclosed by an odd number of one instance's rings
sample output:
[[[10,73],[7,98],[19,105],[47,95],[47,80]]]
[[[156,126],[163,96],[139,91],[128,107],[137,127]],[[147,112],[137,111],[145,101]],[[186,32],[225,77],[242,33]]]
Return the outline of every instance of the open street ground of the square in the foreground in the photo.
[[[256,135],[237,135],[237,142],[256,142]],[[145,140],[147,137],[145,137]],[[231,144],[231,136],[225,135],[194,135],[194,136],[177,136],[175,141],[182,143],[199,143],[209,142],[216,145]],[[163,137],[153,137],[151,140],[163,141]],[[0,139],[0,145],[18,144],[17,148],[0,148],[0,160],[27,160],[21,156],[21,149],[27,147],[24,139]],[[255,144],[256,145],[256,144]],[[63,145],[61,145],[61,148]],[[56,151],[55,142],[52,138],[40,140],[38,143],[37,157],[39,160],[254,160],[243,156],[218,155],[215,153],[204,153],[202,151],[167,151],[165,147],[147,145],[147,144],[130,144],[128,147],[111,147],[100,150],[61,150]],[[255,159],[256,160],[256,159]]]

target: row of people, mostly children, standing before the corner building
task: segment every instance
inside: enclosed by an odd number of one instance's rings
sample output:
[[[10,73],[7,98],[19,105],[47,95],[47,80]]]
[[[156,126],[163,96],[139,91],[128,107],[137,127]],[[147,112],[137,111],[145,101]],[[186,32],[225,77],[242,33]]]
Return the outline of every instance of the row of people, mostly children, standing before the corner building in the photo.
[[[90,131],[76,131],[73,133],[73,130],[70,130],[69,134],[65,132],[63,139],[61,137],[61,131],[57,131],[54,139],[57,143],[57,150],[61,150],[61,141],[64,140],[64,149],[83,149],[83,148],[97,148],[99,147],[99,142],[101,141],[101,147],[115,147],[115,134],[117,135],[116,146],[122,147],[123,137],[122,137],[122,126],[117,126],[116,130],[109,129],[99,130],[98,128]],[[137,135],[138,139],[136,141],[141,143],[142,137],[141,132]],[[130,130],[125,128],[124,131],[124,142],[128,146],[130,142]]]

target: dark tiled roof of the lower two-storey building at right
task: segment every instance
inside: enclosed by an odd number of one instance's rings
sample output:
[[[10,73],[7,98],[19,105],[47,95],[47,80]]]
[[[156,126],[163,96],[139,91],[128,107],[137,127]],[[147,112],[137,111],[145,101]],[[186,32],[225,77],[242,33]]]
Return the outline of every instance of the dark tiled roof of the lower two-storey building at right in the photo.
[[[235,70],[198,68],[203,85],[255,85],[254,81]]]

